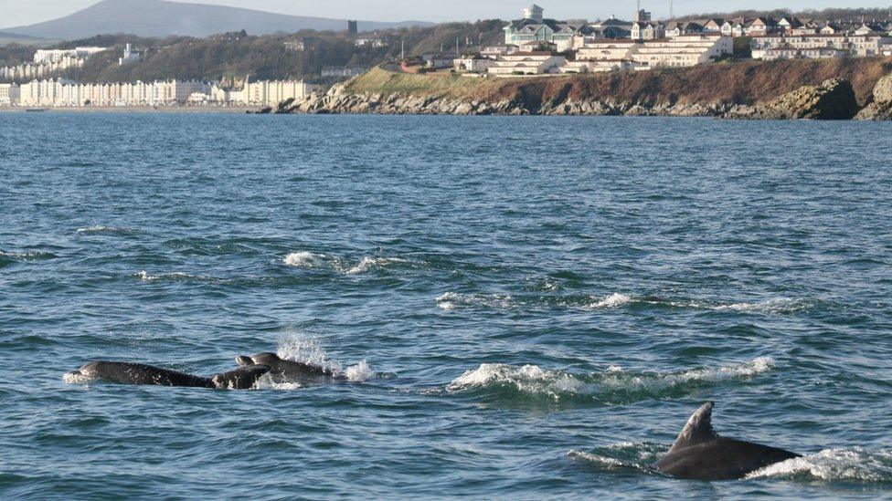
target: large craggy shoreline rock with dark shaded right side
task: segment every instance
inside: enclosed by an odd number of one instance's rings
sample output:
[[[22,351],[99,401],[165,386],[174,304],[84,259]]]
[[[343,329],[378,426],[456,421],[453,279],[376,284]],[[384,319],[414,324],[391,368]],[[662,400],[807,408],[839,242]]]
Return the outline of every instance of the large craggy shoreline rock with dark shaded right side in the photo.
[[[851,120],[858,113],[852,84],[832,78],[821,85],[806,85],[764,106],[744,113],[728,113],[727,118],[757,120]]]

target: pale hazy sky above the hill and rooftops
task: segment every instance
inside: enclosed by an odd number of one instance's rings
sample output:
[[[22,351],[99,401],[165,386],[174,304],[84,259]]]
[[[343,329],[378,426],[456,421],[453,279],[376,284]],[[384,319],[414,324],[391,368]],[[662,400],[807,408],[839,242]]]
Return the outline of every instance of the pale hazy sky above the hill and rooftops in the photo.
[[[484,18],[515,18],[526,0],[192,0],[199,4],[233,5],[282,14],[364,19],[367,21],[452,21]],[[0,26],[20,26],[67,16],[98,0],[0,0]],[[735,10],[739,8],[791,9],[888,6],[889,0],[674,0],[680,14]],[[556,18],[632,16],[634,0],[536,0],[546,16]],[[655,16],[668,16],[668,0],[642,0],[642,6]]]

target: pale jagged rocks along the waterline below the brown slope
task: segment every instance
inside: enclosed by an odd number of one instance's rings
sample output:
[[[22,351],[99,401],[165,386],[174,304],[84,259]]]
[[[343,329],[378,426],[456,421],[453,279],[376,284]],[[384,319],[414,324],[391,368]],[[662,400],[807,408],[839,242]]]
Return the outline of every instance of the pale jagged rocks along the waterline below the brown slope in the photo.
[[[724,117],[732,119],[848,120],[858,104],[852,85],[834,78],[805,86],[763,106],[732,103],[660,103],[614,99],[573,99],[562,95],[547,102],[515,94],[500,100],[457,99],[448,95],[378,94],[350,91],[350,81],[324,94],[280,106],[277,112],[389,115],[626,115]]]

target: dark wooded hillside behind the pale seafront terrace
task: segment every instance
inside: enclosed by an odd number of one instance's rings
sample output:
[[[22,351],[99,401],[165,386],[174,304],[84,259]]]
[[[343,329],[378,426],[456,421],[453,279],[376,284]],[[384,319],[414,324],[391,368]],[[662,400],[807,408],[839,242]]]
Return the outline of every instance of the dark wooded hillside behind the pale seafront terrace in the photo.
[[[302,31],[254,37],[244,31],[207,38],[141,38],[127,35],[101,35],[59,44],[56,48],[80,46],[109,47],[87,61],[84,68],[71,71],[66,78],[85,82],[151,81],[166,78],[196,78],[240,82],[252,79],[306,78],[319,80],[324,67],[371,67],[400,56],[417,56],[441,48],[475,50],[481,45],[498,43],[502,37],[501,20],[476,23],[448,23],[430,27],[411,27],[362,33]],[[383,47],[357,47],[356,38],[381,39]],[[304,50],[293,50],[286,42],[303,41]],[[120,66],[118,57],[125,44],[144,49],[142,60]],[[13,63],[29,60],[33,47],[0,47],[0,60]]]

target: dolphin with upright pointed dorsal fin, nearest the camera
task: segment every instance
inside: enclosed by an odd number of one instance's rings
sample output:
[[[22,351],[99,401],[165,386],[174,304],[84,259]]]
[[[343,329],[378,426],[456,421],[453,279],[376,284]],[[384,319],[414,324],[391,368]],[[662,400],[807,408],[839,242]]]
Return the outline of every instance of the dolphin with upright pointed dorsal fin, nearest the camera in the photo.
[[[663,459],[651,467],[688,480],[735,480],[771,464],[802,457],[783,449],[723,438],[712,429],[713,402],[691,416]]]

